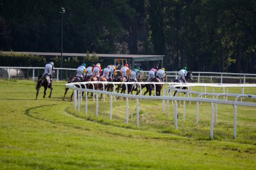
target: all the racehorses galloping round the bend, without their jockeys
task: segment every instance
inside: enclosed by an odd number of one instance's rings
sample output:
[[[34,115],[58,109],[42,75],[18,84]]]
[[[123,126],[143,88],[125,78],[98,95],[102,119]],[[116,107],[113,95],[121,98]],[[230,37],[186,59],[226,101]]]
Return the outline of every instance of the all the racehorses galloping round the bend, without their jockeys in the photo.
[[[192,72],[189,71],[187,72],[187,75],[185,76],[185,79],[186,81],[189,81],[191,79],[193,79],[193,75],[192,75]],[[109,79],[106,79],[106,77],[96,77],[94,75],[92,76],[85,76],[83,79],[80,79],[76,76],[74,77],[71,77],[67,83],[76,83],[76,82],[83,82],[83,81],[101,81],[101,82],[104,82],[104,81],[109,81],[109,82],[134,82],[133,80],[129,79],[129,77],[122,77],[121,75],[119,76],[115,76],[115,77],[110,77]],[[143,82],[143,81],[146,81],[146,80],[143,80],[141,79],[141,75],[139,73],[139,75],[137,75],[137,81],[139,82]],[[146,95],[147,93],[149,93],[149,95],[152,94],[152,90],[154,90],[154,86],[153,86],[153,82],[156,82],[155,84],[155,87],[156,87],[156,95],[159,95],[160,96],[160,92],[162,90],[162,84],[161,84],[161,80],[158,79],[157,77],[154,77],[152,79],[150,79],[150,81],[148,82],[152,82],[152,83],[145,83],[143,85],[141,85],[141,88],[139,88],[139,85],[136,85],[136,83],[128,83],[127,86],[125,84],[119,84],[117,85],[117,88],[115,88],[115,90],[117,91],[117,93],[119,93],[119,90],[121,89],[121,93],[125,93],[126,91],[126,87],[127,87],[127,93],[131,93],[133,94],[132,92],[135,91],[136,92],[136,95],[140,93],[140,91],[146,87],[146,91],[144,92],[144,95]],[[177,82],[177,83],[183,83],[183,81],[181,79],[175,79],[173,82]],[[52,87],[52,81],[50,81],[50,77],[49,75],[40,75],[38,77],[38,81],[37,81],[37,85],[36,85],[36,99],[38,97],[38,92],[39,92],[39,89],[40,87],[44,87],[44,96],[46,95],[46,89],[49,88],[51,89],[50,91],[50,95],[49,95],[49,98],[51,97],[51,93],[52,93],[52,90],[53,90],[53,87]],[[79,85],[76,85],[77,87],[80,87]],[[82,88],[86,88],[86,89],[98,89],[98,90],[106,90],[106,91],[113,91],[113,87],[114,85],[111,84],[111,83],[108,83],[108,84],[103,84],[103,83],[94,83],[94,86],[92,85],[92,83],[88,83],[86,84],[86,87],[85,85],[81,85]],[[177,87],[179,88],[179,87]],[[63,99],[65,98],[65,95],[67,94],[67,91],[68,91],[69,88],[66,88],[65,89],[65,93],[64,93],[64,96],[63,96]],[[182,89],[187,89],[187,87],[182,87]],[[175,93],[174,93],[175,95]],[[73,93],[71,94],[71,100],[72,100],[72,97],[73,97]]]

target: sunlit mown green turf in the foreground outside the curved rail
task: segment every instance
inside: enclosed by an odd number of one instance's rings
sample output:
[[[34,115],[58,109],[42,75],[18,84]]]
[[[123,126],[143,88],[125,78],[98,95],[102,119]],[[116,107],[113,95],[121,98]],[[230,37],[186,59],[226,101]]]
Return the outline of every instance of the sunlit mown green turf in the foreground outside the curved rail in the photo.
[[[241,136],[233,140],[230,138],[232,126],[223,125],[226,127],[223,131],[230,136],[225,139],[221,134],[216,134],[216,139],[209,140],[208,136],[200,134],[206,126],[200,131],[196,130],[200,127],[195,128],[196,132],[187,131],[191,133],[191,137],[188,137],[172,128],[167,132],[161,132],[160,127],[150,129],[150,123],[145,121],[143,124],[143,118],[139,129],[133,128],[132,122],[130,127],[123,128],[115,120],[104,122],[93,116],[83,118],[79,113],[71,112],[73,103],[62,101],[64,81],[54,82],[51,99],[42,98],[40,89],[37,101],[35,85],[32,81],[0,80],[0,169],[256,167],[255,109],[250,108],[245,113],[249,117],[247,121],[254,121],[245,123],[254,124],[252,128],[241,127],[242,130],[249,130],[249,134],[244,134],[245,138],[243,132],[239,131]],[[105,111],[101,112],[103,119]],[[146,110],[141,112],[146,116]],[[118,118],[116,115],[115,119]],[[197,137],[197,134],[205,137]]]

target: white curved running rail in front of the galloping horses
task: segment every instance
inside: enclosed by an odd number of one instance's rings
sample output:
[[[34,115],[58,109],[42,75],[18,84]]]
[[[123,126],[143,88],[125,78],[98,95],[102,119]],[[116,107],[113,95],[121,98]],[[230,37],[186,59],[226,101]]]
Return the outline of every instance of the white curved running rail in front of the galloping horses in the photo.
[[[197,115],[196,115],[196,124],[198,124],[198,118],[199,118],[199,102],[205,102],[205,103],[210,103],[211,105],[211,109],[210,109],[210,138],[213,139],[214,136],[214,126],[216,126],[216,121],[217,121],[217,104],[226,104],[226,105],[232,105],[233,106],[233,136],[234,138],[236,138],[236,110],[237,110],[237,106],[238,105],[243,105],[243,106],[249,106],[249,107],[256,107],[256,95],[251,95],[251,94],[244,94],[242,91],[242,94],[238,94],[238,93],[207,93],[207,92],[197,92],[197,91],[192,91],[192,90],[180,90],[177,89],[176,87],[181,87],[181,86],[187,86],[187,87],[194,87],[194,86],[202,86],[205,87],[205,85],[210,86],[210,87],[221,87],[222,85],[220,84],[197,84],[197,83],[162,83],[162,84],[167,84],[168,87],[166,87],[164,89],[164,95],[163,96],[147,96],[147,95],[129,95],[127,94],[123,94],[123,93],[115,93],[115,92],[109,92],[109,91],[100,91],[100,90],[95,90],[94,89],[94,83],[103,83],[103,84],[109,84],[109,82],[83,82],[83,83],[67,83],[65,84],[65,87],[73,89],[74,91],[74,95],[73,95],[73,107],[74,109],[78,110],[78,112],[80,112],[80,105],[83,103],[82,100],[82,91],[84,92],[90,92],[90,93],[94,93],[94,95],[96,96],[96,110],[95,110],[95,114],[96,116],[98,116],[98,96],[100,95],[108,95],[110,98],[110,105],[109,105],[109,118],[112,119],[112,108],[113,108],[113,97],[125,97],[126,99],[126,114],[125,114],[125,122],[126,124],[128,124],[129,121],[129,99],[135,99],[136,100],[136,125],[137,127],[139,127],[139,99],[155,99],[155,100],[162,100],[162,114],[165,113],[165,108],[166,108],[166,116],[168,116],[168,110],[169,110],[169,101],[172,101],[174,103],[174,105],[172,105],[173,108],[173,118],[174,118],[174,128],[178,128],[178,104],[177,101],[183,101],[183,121],[185,121],[185,102],[186,101],[195,101],[197,103]],[[141,87],[141,84],[146,84],[149,82],[140,82],[137,83],[137,85],[139,85]],[[82,89],[82,85],[86,85],[86,84],[91,84],[93,85],[93,89]],[[129,83],[111,83],[114,85],[119,85],[119,84],[124,84],[127,88],[127,84]],[[160,83],[153,83],[154,84],[154,88],[156,88],[156,84],[160,84]],[[86,87],[86,86],[85,86]],[[224,87],[256,87],[256,84],[251,84],[251,85],[234,85],[234,84],[229,84],[229,85],[224,85]],[[179,90],[179,92],[186,92],[187,95],[185,95],[185,97],[173,97],[172,91],[174,90]],[[195,94],[197,95],[197,97],[191,97],[191,95],[189,94]],[[93,95],[93,96],[94,96]],[[205,95],[205,98],[203,98],[202,96]],[[213,96],[212,99],[208,99],[206,98],[206,95],[210,95]],[[223,99],[219,99],[218,97],[220,96],[224,96],[226,98]],[[215,98],[214,98],[215,97]],[[228,97],[232,97],[235,99],[234,100],[228,100]],[[248,97],[253,99],[254,102],[245,102],[242,101],[241,98],[243,97]],[[94,98],[93,98],[94,99]],[[105,99],[105,98],[104,98]],[[239,99],[241,99],[241,101],[238,101]],[[215,106],[215,107],[214,107]],[[215,108],[215,112],[214,112],[214,108]],[[86,97],[85,97],[85,114],[88,114],[88,95],[86,93]]]

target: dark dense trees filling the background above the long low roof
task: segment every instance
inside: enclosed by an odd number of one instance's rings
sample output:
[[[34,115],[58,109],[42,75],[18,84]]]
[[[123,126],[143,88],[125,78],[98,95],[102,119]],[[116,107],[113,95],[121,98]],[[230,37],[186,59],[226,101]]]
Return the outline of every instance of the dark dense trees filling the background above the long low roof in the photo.
[[[168,71],[255,73],[255,0],[18,1],[0,4],[0,49],[165,54]]]

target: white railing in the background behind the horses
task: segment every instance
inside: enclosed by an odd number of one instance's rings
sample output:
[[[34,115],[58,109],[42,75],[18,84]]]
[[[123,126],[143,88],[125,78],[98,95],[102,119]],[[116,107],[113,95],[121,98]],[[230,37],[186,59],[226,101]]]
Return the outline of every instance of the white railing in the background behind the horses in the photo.
[[[20,69],[27,74],[25,75],[26,79],[32,79],[33,81],[36,79],[36,77],[44,72],[44,67],[0,67],[0,69],[6,69],[8,73],[8,78],[11,79],[12,75],[9,74],[10,69]],[[61,73],[64,73],[62,75],[62,80],[67,80],[69,77],[67,75],[67,72],[71,73],[72,75],[76,75],[76,69],[69,69],[69,68],[55,68],[55,79],[57,81],[61,80]],[[30,73],[31,72],[31,73]],[[65,74],[66,73],[66,74]],[[148,77],[148,71],[141,71],[146,77]],[[178,77],[178,71],[166,71],[167,75],[167,81],[173,81],[174,79],[177,79]],[[1,75],[0,75],[1,77]],[[13,77],[18,77],[17,75],[13,75]],[[247,83],[248,79],[253,79],[256,81],[256,74],[243,74],[243,73],[216,73],[216,72],[193,72],[193,79],[197,79],[197,83],[204,83],[204,81],[209,81],[212,83],[213,79],[218,79],[218,83],[223,83],[224,79],[236,79],[239,81],[239,83]]]

